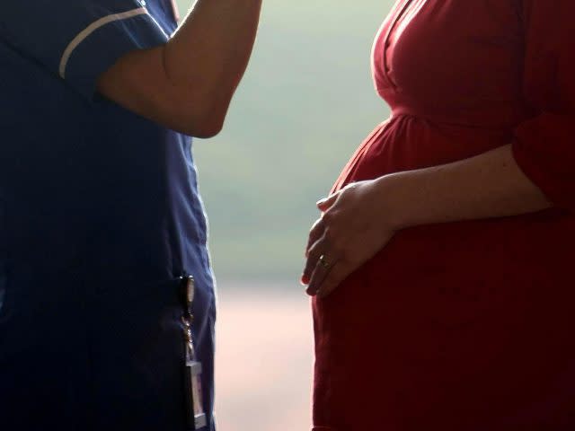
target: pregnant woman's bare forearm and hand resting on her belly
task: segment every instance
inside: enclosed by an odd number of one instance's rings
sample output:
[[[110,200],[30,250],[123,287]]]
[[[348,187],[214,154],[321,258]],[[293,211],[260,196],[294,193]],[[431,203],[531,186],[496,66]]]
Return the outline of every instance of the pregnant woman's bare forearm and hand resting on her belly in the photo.
[[[469,159],[351,183],[318,202],[302,283],[332,293],[394,233],[421,224],[518,216],[549,207],[504,145]]]

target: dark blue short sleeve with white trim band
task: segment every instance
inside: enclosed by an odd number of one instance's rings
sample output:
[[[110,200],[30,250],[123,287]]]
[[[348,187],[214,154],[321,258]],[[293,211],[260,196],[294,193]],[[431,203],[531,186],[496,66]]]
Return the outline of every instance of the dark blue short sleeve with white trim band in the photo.
[[[93,96],[98,76],[130,50],[167,36],[137,0],[4,0],[0,43]]]

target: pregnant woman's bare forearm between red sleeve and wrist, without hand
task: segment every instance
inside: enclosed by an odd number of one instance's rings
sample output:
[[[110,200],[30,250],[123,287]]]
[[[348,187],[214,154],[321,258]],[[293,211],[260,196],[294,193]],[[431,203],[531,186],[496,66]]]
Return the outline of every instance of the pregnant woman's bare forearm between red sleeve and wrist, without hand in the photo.
[[[376,180],[396,229],[501,216],[550,207],[521,172],[511,145],[455,163],[398,172]]]

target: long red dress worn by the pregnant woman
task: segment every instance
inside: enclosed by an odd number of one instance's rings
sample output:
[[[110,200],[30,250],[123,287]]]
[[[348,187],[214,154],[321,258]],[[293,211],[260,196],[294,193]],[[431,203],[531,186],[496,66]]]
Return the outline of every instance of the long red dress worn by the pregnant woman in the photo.
[[[406,229],[314,300],[315,430],[575,430],[574,22],[574,0],[395,4],[393,115],[334,189],[512,144],[554,206]]]

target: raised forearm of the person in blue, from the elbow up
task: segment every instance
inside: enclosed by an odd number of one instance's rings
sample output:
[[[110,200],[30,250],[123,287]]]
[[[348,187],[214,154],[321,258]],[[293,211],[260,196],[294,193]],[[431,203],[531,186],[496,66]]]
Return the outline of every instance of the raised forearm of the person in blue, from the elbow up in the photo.
[[[170,81],[223,119],[252,53],[261,0],[198,0],[164,48]],[[187,92],[186,92],[187,91]]]

